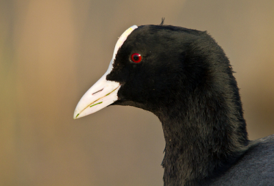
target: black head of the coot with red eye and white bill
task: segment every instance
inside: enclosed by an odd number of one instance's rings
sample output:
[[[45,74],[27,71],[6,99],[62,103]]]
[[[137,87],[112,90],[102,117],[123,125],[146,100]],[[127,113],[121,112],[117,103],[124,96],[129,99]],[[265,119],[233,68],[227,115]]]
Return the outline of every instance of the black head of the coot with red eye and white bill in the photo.
[[[199,43],[210,45],[201,42],[204,36],[210,37],[203,31],[166,25],[130,27],[117,41],[105,75],[79,101],[74,118],[111,104],[155,114],[187,100],[211,78],[203,59],[206,52],[199,49],[205,48]]]

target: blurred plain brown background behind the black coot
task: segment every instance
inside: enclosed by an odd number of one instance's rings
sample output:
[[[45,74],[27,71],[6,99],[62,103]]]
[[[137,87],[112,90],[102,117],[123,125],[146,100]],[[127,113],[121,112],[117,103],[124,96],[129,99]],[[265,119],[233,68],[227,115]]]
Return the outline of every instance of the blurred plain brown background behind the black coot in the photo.
[[[73,111],[132,25],[207,30],[238,80],[249,138],[274,133],[274,1],[0,1],[0,185],[163,185],[158,118]],[[126,117],[125,117],[126,116]]]

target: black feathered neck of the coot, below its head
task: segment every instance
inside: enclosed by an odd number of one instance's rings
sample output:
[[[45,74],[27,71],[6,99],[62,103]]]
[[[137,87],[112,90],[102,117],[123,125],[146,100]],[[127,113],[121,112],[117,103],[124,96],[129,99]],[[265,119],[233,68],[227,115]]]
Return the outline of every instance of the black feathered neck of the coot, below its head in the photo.
[[[227,103],[197,95],[177,104],[181,106],[155,113],[166,141],[165,185],[199,185],[227,170],[247,150],[241,105],[234,103],[233,98]]]

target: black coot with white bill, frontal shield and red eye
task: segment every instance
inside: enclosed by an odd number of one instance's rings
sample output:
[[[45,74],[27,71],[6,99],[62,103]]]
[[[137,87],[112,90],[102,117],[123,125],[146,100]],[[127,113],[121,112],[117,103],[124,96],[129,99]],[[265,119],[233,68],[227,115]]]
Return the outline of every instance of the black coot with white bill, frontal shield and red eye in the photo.
[[[163,22],[127,29],[74,118],[108,105],[158,116],[164,185],[274,185],[274,135],[249,141],[232,66],[206,31]]]

